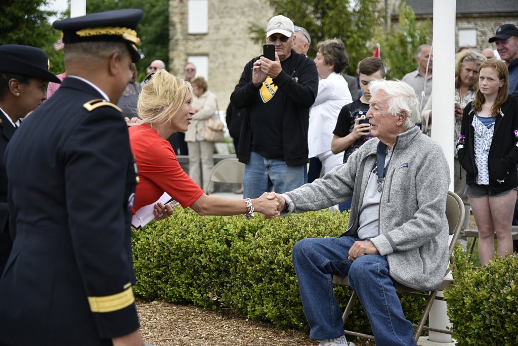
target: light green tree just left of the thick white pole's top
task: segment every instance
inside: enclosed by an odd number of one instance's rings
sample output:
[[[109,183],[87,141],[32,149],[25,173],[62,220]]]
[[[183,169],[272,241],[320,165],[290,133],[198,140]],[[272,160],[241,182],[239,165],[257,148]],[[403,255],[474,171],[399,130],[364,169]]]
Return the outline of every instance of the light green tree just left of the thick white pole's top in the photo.
[[[416,22],[413,9],[405,2],[396,12],[399,15],[398,24],[393,24],[388,32],[380,36],[381,57],[388,67],[387,79],[402,78],[416,69],[415,53],[418,47],[431,42],[428,20]]]

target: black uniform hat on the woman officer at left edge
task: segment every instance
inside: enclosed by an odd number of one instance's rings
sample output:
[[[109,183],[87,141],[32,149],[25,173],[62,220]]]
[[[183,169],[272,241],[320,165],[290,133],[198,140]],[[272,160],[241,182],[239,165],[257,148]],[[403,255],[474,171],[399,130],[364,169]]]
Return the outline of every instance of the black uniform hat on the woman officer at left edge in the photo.
[[[49,58],[45,52],[31,46],[0,46],[0,72],[61,83],[59,78],[49,72]]]

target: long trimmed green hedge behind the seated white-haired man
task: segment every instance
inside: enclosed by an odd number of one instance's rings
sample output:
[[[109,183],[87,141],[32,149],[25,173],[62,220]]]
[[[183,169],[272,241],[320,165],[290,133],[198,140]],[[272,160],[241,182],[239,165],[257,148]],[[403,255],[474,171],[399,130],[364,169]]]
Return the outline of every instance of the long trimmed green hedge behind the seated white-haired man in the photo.
[[[247,221],[175,210],[172,217],[134,231],[135,293],[146,299],[232,309],[276,327],[307,330],[292,265],[293,246],[304,238],[339,236],[347,223],[347,213],[327,211]],[[335,294],[344,306],[351,291],[336,286]],[[410,297],[402,304],[407,318],[418,321],[423,300]],[[354,318],[347,328],[369,332],[359,303],[351,313]]]

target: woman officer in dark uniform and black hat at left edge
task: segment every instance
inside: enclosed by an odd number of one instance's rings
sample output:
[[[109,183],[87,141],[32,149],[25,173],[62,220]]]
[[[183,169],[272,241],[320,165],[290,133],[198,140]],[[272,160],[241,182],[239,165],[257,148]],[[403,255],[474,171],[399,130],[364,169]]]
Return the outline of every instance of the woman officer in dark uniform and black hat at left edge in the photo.
[[[31,46],[0,46],[0,276],[12,247],[4,153],[20,119],[47,99],[47,81],[61,83],[49,72],[44,51]]]

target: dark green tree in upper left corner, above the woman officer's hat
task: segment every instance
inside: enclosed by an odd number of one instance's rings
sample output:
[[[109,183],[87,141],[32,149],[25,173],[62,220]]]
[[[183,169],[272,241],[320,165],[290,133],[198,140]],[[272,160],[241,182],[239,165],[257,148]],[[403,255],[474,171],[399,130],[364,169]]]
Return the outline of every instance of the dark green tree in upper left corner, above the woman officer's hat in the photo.
[[[47,0],[2,0],[0,2],[0,45],[25,45],[44,50],[49,56],[50,70],[63,72],[63,52],[56,51],[54,42],[60,34],[48,19],[56,12],[42,10]]]

